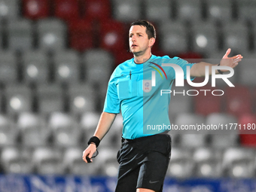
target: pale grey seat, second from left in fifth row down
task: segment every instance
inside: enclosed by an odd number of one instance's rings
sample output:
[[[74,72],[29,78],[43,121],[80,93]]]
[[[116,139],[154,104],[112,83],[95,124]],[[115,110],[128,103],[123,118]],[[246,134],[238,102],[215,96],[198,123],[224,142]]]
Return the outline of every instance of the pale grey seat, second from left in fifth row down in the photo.
[[[43,115],[23,112],[17,116],[17,128],[24,148],[42,147],[49,144],[50,129]]]

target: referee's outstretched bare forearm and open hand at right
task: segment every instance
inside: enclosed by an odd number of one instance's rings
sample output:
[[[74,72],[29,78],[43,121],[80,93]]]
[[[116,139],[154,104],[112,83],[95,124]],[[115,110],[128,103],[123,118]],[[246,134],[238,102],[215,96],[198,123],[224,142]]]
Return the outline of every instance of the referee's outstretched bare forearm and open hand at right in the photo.
[[[227,49],[227,52],[221,59],[219,63],[220,66],[228,66],[231,68],[235,68],[238,63],[242,60],[242,55],[236,55],[232,57],[228,57],[230,54],[231,49]],[[190,76],[191,77],[203,77],[206,75],[206,66],[209,66],[209,75],[212,75],[212,66],[218,66],[218,64],[210,64],[208,62],[197,62],[194,66],[190,69]],[[221,69],[221,72],[228,72],[228,70]],[[218,74],[218,70],[215,71],[215,74]]]

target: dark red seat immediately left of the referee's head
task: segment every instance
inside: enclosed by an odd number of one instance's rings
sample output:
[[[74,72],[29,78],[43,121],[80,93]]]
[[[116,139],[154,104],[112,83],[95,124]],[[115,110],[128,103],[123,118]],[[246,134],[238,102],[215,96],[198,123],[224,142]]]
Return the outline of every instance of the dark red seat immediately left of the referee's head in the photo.
[[[113,53],[120,53],[120,51],[126,50],[125,41],[128,41],[128,37],[125,36],[123,23],[109,20],[102,23],[99,33],[100,47]]]

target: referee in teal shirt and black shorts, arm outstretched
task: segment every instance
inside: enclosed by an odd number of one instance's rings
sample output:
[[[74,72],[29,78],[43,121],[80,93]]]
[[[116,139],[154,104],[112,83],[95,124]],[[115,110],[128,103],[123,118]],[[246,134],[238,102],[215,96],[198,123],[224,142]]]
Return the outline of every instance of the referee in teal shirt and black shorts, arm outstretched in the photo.
[[[156,40],[154,26],[146,20],[131,23],[129,32],[130,51],[133,59],[126,60],[114,70],[108,82],[105,105],[94,136],[83,152],[83,160],[88,163],[99,142],[108,133],[117,114],[122,112],[122,146],[117,153],[120,164],[116,192],[162,191],[163,181],[171,154],[171,137],[166,130],[148,130],[148,125],[170,125],[170,94],[160,96],[160,90],[171,90],[175,80],[172,67],[162,66],[173,63],[183,69],[187,77],[203,77],[206,66],[212,75],[212,66],[234,68],[242,56],[228,57],[227,50],[219,64],[207,62],[188,63],[178,57],[154,56],[151,47]],[[227,70],[216,70],[216,74]],[[154,77],[154,86],[152,79]]]

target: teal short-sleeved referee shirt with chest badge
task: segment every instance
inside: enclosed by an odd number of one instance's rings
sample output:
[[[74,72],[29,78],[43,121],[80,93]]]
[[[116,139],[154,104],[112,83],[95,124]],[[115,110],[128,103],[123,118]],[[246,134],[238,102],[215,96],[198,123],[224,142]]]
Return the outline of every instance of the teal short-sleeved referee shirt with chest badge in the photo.
[[[184,79],[187,77],[187,66],[194,65],[178,57],[171,59],[169,56],[152,55],[141,64],[136,64],[133,58],[114,69],[108,82],[103,111],[113,114],[122,112],[124,139],[163,133],[165,129],[157,130],[153,127],[161,125],[164,128],[163,125],[170,125],[171,94],[161,96],[161,90],[171,90],[175,70],[169,66],[162,66],[163,63],[180,66],[184,72]]]

